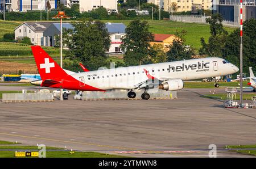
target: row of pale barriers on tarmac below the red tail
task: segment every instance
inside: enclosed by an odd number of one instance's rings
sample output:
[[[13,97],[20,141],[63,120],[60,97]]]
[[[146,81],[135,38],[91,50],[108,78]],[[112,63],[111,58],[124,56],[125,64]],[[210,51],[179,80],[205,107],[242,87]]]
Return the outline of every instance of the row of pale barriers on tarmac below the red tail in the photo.
[[[51,102],[53,94],[49,93],[24,93],[3,94],[2,102]]]

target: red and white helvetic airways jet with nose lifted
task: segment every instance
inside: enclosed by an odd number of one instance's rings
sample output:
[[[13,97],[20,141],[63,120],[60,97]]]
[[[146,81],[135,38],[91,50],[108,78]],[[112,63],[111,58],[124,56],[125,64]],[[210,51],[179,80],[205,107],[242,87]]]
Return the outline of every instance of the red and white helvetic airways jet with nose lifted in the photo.
[[[142,99],[145,100],[150,98],[147,92],[149,88],[181,90],[184,80],[217,77],[239,70],[222,58],[210,57],[75,73],[61,69],[41,47],[31,48],[42,78],[31,82],[34,85],[80,91],[125,89],[129,90],[129,98],[135,98],[134,89],[144,89]]]

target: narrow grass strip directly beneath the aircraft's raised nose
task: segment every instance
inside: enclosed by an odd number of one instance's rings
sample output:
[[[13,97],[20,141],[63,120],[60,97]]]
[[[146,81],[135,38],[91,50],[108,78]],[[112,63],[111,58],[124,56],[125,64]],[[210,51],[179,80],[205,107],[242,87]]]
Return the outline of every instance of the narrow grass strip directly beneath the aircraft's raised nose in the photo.
[[[247,86],[248,81],[243,82],[243,86]],[[218,82],[220,87],[239,87],[239,82]],[[184,82],[184,88],[215,88],[214,82]]]

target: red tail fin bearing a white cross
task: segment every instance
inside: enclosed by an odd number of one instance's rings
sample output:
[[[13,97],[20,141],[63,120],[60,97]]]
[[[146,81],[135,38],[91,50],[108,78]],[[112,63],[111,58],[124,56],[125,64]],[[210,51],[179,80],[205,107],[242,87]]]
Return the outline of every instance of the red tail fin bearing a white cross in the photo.
[[[60,80],[67,73],[39,46],[32,46],[32,53],[42,80]]]

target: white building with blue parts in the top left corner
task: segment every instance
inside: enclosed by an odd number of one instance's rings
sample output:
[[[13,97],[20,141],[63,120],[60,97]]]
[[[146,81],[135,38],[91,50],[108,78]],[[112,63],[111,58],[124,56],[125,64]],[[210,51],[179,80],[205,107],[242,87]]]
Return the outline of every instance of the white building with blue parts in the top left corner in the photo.
[[[3,1],[6,2],[7,11],[46,10],[47,1],[49,1],[51,9],[57,9],[57,0],[0,0],[0,10],[3,10]]]

